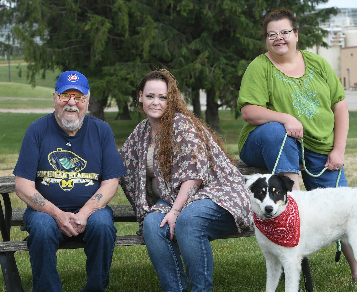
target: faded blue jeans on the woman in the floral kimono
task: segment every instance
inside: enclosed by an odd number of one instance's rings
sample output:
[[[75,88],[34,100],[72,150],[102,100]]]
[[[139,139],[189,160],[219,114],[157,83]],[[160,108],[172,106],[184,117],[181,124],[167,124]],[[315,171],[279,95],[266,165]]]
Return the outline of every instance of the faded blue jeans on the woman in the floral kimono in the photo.
[[[157,204],[169,205],[163,200]],[[192,292],[211,291],[213,286],[213,253],[210,241],[237,230],[230,212],[210,199],[193,201],[178,215],[175,237],[170,228],[160,227],[166,214],[151,212],[144,219],[144,240],[150,260],[160,278],[163,291],[187,291],[187,277]],[[185,263],[186,273],[182,261]]]

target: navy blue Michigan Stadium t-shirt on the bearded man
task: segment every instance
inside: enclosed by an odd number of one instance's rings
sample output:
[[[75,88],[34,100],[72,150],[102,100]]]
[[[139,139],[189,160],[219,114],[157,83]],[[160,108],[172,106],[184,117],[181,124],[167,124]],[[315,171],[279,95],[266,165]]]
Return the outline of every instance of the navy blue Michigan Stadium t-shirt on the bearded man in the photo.
[[[41,195],[58,208],[74,210],[95,194],[101,181],[126,171],[106,122],[86,115],[77,134],[69,136],[52,112],[27,129],[13,173],[35,181]]]

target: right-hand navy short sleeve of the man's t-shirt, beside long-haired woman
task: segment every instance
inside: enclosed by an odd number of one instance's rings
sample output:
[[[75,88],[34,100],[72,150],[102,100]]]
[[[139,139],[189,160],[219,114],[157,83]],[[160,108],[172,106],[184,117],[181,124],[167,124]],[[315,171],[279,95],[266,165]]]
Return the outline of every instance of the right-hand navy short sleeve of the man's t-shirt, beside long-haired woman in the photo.
[[[126,174],[126,170],[115,145],[114,134],[110,130],[109,138],[102,149],[102,181],[120,177]]]

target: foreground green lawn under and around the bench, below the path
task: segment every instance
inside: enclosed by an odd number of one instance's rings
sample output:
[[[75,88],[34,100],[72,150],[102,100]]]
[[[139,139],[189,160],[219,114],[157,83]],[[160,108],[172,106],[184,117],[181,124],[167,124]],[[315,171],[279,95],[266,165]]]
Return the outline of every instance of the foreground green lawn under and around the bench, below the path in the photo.
[[[22,138],[27,126],[40,114],[8,114],[0,113],[0,166],[14,166],[19,153]],[[132,121],[115,121],[116,113],[106,113],[106,120],[112,127],[117,147],[120,148],[125,139],[139,122],[136,116]],[[220,119],[222,135],[226,137],[226,145],[231,147],[235,155],[237,139],[243,121],[234,120],[229,111],[221,111]],[[350,112],[350,132],[346,148],[346,176],[349,185],[357,173],[357,163],[347,167],[347,160],[356,159],[357,112]],[[348,164],[349,165],[349,164]],[[3,168],[5,169],[5,168]],[[354,170],[355,169],[355,170]],[[25,208],[26,204],[11,194],[13,208]],[[111,201],[111,205],[127,204],[122,190]],[[135,234],[136,222],[116,223],[118,235]],[[21,232],[18,226],[12,227],[11,240],[23,240],[26,232]],[[265,260],[260,252],[255,237],[232,238],[212,242],[214,255],[213,283],[214,292],[260,292],[265,290],[266,269]],[[32,285],[30,258],[28,252],[16,252],[15,258],[25,291]],[[85,255],[82,249],[60,250],[57,253],[57,268],[63,282],[63,291],[80,291],[85,284]],[[310,269],[315,291],[346,292],[357,291],[350,286],[350,269],[345,258],[340,262],[335,260],[335,245],[325,248],[310,256]],[[150,263],[145,246],[116,247],[110,272],[111,281],[107,291],[160,291],[159,279]],[[0,278],[0,292],[5,292],[4,280]],[[301,280],[301,283],[303,281]],[[277,292],[284,291],[284,281],[281,280]]]

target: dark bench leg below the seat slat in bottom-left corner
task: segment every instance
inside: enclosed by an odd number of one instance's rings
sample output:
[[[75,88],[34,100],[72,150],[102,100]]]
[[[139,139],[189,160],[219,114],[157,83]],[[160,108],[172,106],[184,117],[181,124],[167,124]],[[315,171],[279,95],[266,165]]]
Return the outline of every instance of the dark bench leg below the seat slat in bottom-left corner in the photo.
[[[13,252],[0,252],[2,275],[7,292],[24,292]]]

